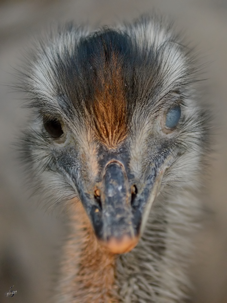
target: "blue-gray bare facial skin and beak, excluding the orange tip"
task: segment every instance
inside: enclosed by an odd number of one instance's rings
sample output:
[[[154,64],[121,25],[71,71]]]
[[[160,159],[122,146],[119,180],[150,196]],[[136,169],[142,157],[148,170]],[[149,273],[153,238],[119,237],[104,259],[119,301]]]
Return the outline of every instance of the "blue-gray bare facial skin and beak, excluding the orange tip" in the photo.
[[[137,243],[143,213],[160,169],[168,158],[168,153],[159,156],[153,165],[147,167],[144,178],[138,180],[129,167],[128,149],[124,144],[116,150],[100,148],[99,174],[93,182],[90,180],[88,183],[81,175],[80,157],[74,148],[54,150],[55,159],[61,163],[59,172],[66,172],[73,180],[94,231],[103,242],[111,238],[120,241],[127,236]],[[64,156],[66,153],[67,158]],[[69,163],[77,169],[67,169]],[[132,193],[132,186],[136,186],[136,194]],[[99,189],[100,197],[94,195],[94,187]]]

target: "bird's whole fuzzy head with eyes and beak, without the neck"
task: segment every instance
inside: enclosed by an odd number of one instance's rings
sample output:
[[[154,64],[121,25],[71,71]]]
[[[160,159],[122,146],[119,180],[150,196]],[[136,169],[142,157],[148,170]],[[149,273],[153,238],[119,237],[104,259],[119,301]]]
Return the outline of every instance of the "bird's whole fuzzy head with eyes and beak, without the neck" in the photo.
[[[28,79],[38,114],[25,144],[33,171],[55,195],[79,197],[117,254],[137,245],[161,187],[191,177],[202,129],[180,48],[133,39],[105,30],[73,51],[53,44]]]

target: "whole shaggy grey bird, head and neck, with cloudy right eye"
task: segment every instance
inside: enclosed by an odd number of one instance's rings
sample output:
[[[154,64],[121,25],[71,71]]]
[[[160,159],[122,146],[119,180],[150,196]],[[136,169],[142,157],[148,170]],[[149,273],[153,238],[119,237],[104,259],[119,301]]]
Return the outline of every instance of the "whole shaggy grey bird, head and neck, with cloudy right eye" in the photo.
[[[207,141],[193,52],[142,17],[69,25],[31,54],[23,152],[71,222],[55,302],[185,302]]]

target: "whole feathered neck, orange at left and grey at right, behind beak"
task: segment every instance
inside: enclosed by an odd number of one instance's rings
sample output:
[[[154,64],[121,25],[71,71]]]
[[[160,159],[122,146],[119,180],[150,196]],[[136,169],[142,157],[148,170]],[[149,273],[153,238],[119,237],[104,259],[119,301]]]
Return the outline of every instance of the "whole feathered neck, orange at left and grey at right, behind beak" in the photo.
[[[99,244],[81,202],[71,202],[70,213],[75,215],[56,302],[184,302],[190,287],[185,275],[188,237],[198,205],[194,193],[159,197],[138,245],[120,256]]]

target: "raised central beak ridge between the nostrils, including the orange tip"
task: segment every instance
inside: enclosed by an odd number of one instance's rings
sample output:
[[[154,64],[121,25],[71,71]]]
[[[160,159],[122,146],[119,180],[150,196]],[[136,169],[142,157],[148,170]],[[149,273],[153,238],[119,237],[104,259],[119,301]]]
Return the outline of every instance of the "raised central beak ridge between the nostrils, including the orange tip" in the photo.
[[[124,166],[118,161],[109,162],[104,169],[101,201],[103,242],[113,253],[130,251],[138,242],[133,226],[131,196]]]

